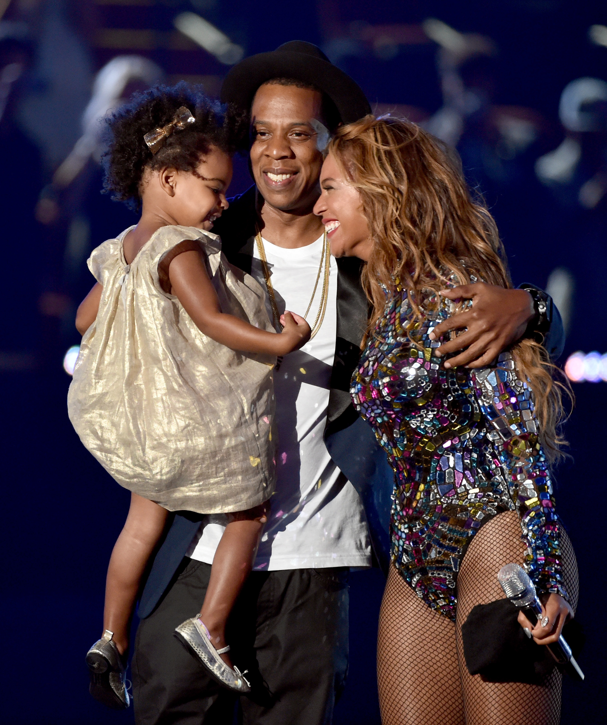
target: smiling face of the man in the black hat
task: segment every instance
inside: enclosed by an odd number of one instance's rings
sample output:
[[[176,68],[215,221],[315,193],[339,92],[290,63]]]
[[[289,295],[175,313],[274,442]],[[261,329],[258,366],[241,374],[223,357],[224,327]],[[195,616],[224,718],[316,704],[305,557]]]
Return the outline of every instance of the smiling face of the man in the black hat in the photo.
[[[253,178],[268,204],[285,212],[311,211],[326,144],[322,96],[310,88],[266,83],[251,109]]]

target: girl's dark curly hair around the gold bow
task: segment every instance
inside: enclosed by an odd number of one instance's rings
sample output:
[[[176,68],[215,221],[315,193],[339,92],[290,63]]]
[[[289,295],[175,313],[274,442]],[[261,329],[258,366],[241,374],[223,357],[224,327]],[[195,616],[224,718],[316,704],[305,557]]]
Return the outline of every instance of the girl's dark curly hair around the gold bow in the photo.
[[[145,134],[170,123],[181,106],[189,109],[195,123],[176,130],[162,149],[152,154],[144,141]],[[141,178],[146,167],[195,170],[210,146],[227,154],[246,148],[249,130],[245,112],[222,106],[209,99],[202,86],[190,86],[183,81],[171,87],[154,86],[134,95],[106,123],[104,192],[135,211],[141,207]]]

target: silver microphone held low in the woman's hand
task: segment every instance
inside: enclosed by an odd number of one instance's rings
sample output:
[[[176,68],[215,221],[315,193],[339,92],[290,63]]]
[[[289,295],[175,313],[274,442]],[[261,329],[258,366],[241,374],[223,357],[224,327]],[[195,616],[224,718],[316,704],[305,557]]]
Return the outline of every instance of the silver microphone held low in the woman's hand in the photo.
[[[532,625],[537,624],[542,617],[542,603],[537,598],[534,584],[524,568],[518,564],[506,564],[497,572],[497,579],[502,585],[504,594],[513,605],[523,610]],[[558,642],[553,642],[546,647],[558,664],[563,665],[574,679],[584,679],[584,673],[571,655],[571,647],[562,634],[558,638]]]

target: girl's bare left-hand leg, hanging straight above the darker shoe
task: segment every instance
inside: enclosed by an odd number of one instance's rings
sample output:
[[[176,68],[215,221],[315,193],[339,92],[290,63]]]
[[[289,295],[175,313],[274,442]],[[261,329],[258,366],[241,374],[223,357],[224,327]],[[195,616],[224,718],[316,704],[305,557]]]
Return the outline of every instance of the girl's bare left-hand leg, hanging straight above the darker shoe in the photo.
[[[107,568],[103,614],[103,627],[114,633],[112,639],[121,655],[128,648],[141,576],[162,536],[167,514],[157,503],[131,494],[131,508]]]

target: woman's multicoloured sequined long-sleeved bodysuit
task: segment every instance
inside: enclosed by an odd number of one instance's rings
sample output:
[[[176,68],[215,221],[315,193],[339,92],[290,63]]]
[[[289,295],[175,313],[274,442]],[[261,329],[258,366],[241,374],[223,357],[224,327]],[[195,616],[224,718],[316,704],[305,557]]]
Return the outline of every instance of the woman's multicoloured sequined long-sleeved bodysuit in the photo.
[[[494,368],[443,367],[429,333],[450,308],[448,299],[424,304],[423,319],[412,323],[407,294],[397,285],[351,393],[395,471],[392,562],[419,597],[453,619],[466,547],[484,521],[505,510],[519,513],[525,566],[536,587],[566,592],[531,391],[508,353]]]

